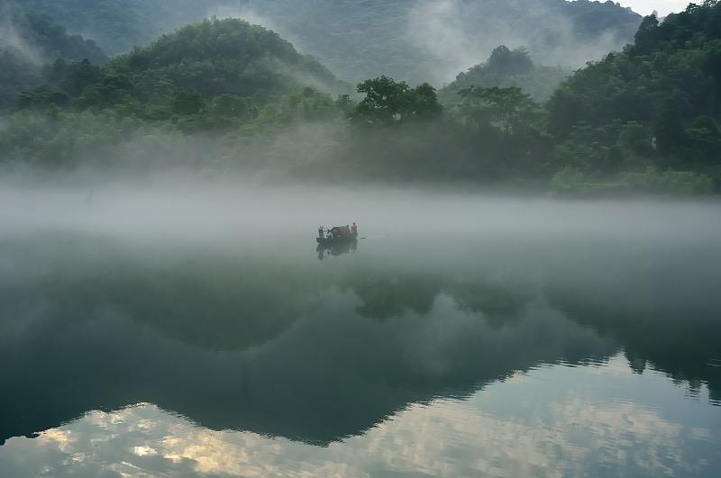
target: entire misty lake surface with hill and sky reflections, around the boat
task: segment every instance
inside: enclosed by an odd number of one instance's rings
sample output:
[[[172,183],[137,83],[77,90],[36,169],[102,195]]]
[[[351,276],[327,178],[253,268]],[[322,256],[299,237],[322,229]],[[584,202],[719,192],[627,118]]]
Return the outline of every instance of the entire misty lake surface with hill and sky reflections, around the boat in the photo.
[[[2,188],[0,475],[719,476],[719,206]]]

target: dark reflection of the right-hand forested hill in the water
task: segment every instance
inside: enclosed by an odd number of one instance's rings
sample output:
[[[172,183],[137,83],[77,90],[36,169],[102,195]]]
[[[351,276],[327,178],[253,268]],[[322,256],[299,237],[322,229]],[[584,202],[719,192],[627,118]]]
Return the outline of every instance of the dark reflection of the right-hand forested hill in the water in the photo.
[[[640,254],[628,251],[628,254]],[[721,399],[721,368],[709,365],[721,357],[721,287],[716,265],[669,257],[672,266],[622,266],[616,270],[580,263],[555,276],[546,286],[552,306],[625,348],[636,372],[651,365],[691,389],[707,383],[713,399]],[[666,268],[668,267],[668,268]],[[576,280],[592,270],[592,280]],[[619,274],[623,280],[619,280]]]

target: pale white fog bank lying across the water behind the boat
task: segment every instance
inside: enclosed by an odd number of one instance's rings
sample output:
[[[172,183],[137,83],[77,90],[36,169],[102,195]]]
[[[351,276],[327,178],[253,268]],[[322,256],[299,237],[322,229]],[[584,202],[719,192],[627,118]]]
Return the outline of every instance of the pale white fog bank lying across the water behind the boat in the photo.
[[[357,221],[361,235],[533,241],[614,239],[712,243],[715,200],[570,201],[420,188],[269,186],[202,177],[143,183],[0,186],[0,237],[41,230],[209,244],[314,244],[318,225]]]

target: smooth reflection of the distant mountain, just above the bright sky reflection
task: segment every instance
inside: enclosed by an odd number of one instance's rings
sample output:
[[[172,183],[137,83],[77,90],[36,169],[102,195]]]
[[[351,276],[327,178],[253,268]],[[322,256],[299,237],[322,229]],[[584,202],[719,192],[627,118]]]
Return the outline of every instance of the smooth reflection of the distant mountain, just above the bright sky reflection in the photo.
[[[4,383],[12,391],[0,395],[0,440],[87,410],[150,401],[208,428],[327,444],[362,433],[408,403],[466,396],[539,362],[575,360],[577,349],[615,350],[558,316],[521,320],[517,331],[501,333],[451,309],[382,327],[319,310],[260,347],[222,354],[135,320],[63,325],[41,320],[0,338]]]

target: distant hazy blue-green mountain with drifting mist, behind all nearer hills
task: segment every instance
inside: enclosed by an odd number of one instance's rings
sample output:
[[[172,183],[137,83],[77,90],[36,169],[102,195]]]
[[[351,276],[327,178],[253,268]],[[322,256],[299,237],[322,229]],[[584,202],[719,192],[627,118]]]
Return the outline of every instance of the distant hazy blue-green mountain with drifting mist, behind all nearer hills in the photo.
[[[381,74],[442,85],[499,44],[539,65],[579,67],[633,39],[641,17],[578,0],[23,0],[105,51],[129,51],[212,15],[241,15],[292,41],[343,80]]]

